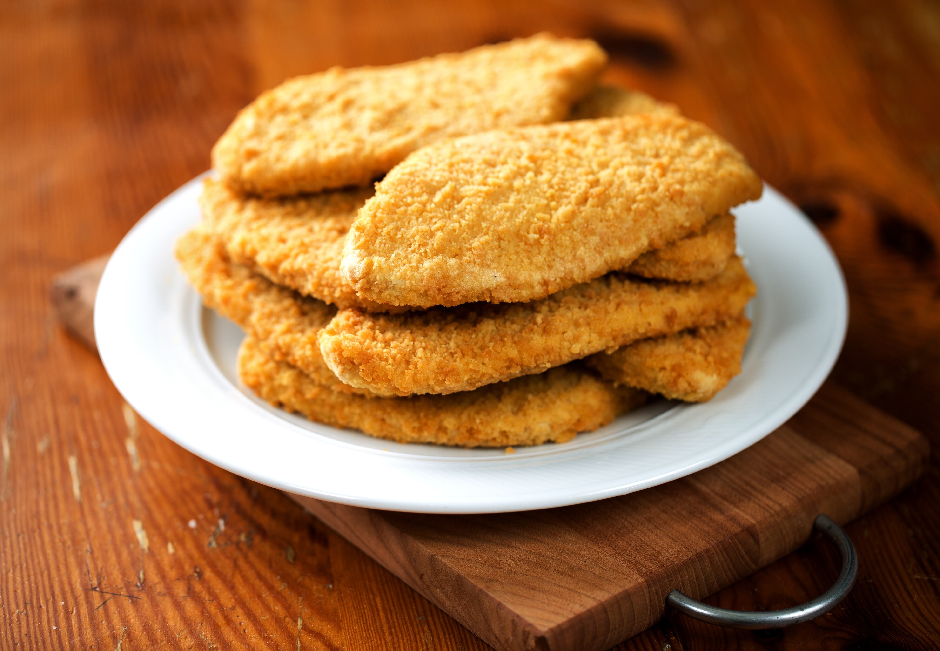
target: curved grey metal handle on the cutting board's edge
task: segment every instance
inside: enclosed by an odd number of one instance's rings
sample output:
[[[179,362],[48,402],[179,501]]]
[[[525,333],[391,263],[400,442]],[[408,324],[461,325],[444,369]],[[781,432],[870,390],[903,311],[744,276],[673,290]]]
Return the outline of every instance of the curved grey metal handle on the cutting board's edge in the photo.
[[[834,542],[842,557],[842,571],[839,572],[838,579],[833,586],[823,595],[805,604],[782,611],[729,611],[703,604],[701,601],[683,595],[678,590],[673,590],[666,595],[666,604],[699,621],[731,628],[781,628],[819,617],[823,612],[830,611],[852,590],[855,577],[858,575],[858,555],[855,553],[849,536],[829,516],[817,516],[813,522],[813,528],[818,532],[823,532],[825,537]]]

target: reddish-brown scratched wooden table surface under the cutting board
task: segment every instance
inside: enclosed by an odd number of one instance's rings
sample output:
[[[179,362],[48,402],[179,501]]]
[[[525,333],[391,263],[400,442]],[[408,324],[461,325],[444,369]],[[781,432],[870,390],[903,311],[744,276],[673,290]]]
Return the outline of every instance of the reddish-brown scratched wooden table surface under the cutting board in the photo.
[[[611,80],[712,125],[804,208],[850,288],[835,377],[940,450],[936,3],[5,3],[0,648],[486,648],[276,490],[137,418],[48,293],[209,167],[260,90],[540,30],[599,40]],[[672,614],[618,648],[940,646],[935,464],[847,531],[859,580],[822,618],[757,634]],[[710,601],[792,605],[835,563],[816,540]]]

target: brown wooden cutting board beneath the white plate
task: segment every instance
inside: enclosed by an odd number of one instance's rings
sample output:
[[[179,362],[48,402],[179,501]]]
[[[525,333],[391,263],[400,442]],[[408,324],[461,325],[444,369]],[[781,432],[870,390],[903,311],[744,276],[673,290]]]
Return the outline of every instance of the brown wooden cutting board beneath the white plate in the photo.
[[[60,319],[94,348],[106,257],[55,279]],[[683,479],[588,504],[482,516],[402,514],[291,495],[500,651],[601,651],[913,483],[927,439],[827,384],[791,421]],[[833,577],[838,568],[833,568]]]

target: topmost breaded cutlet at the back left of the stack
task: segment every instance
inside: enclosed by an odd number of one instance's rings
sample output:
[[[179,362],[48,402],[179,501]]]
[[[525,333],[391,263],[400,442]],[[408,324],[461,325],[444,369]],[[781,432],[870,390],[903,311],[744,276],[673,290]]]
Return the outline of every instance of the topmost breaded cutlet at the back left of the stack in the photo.
[[[212,167],[233,188],[266,196],[365,185],[444,137],[564,119],[606,59],[593,40],[540,34],[295,77],[239,113]]]

